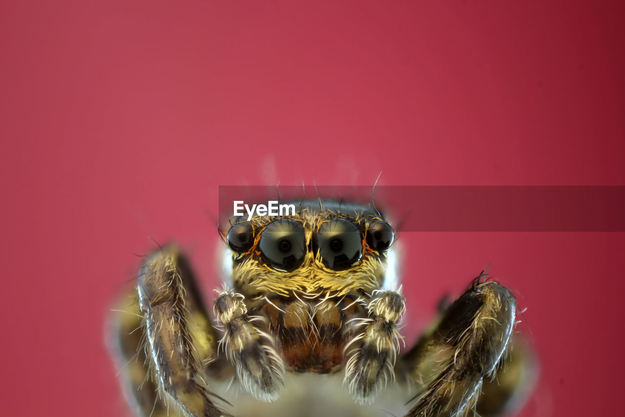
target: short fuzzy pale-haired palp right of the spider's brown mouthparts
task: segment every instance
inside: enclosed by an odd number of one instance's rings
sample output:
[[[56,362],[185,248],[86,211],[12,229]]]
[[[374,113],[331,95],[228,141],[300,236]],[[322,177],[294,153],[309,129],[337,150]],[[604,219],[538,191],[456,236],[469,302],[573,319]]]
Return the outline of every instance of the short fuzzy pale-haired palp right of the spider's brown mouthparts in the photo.
[[[364,404],[372,401],[387,379],[394,378],[393,368],[399,351],[396,324],[406,309],[405,299],[396,291],[380,291],[369,303],[369,317],[358,319],[356,332],[346,345],[345,383],[354,399]]]

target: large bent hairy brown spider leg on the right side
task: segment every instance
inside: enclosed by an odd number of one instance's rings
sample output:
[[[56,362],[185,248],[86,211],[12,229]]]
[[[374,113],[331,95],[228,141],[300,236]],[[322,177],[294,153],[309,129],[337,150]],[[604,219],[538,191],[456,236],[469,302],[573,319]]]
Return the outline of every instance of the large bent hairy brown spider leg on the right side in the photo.
[[[514,296],[496,282],[474,281],[403,356],[397,374],[424,387],[406,417],[466,416],[482,381],[494,376],[511,341]]]

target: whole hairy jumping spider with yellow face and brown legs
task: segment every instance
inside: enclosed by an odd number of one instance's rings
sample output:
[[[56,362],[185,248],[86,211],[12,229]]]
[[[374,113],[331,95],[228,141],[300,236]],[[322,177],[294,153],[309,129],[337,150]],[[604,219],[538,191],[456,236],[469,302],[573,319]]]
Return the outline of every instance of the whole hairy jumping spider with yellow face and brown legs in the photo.
[[[399,356],[406,300],[377,210],[302,202],[295,215],[234,219],[224,237],[217,324],[171,245],[114,316],[136,415],[486,417],[527,394],[515,298],[484,274]]]

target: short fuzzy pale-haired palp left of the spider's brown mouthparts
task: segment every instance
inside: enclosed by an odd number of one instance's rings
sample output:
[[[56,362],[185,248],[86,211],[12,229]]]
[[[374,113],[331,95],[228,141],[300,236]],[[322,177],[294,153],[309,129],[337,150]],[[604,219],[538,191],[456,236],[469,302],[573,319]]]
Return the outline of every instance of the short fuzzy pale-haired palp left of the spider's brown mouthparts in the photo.
[[[263,331],[264,319],[249,316],[242,294],[224,291],[215,299],[217,319],[224,325],[226,353],[244,388],[261,401],[275,401],[284,374],[273,337]]]

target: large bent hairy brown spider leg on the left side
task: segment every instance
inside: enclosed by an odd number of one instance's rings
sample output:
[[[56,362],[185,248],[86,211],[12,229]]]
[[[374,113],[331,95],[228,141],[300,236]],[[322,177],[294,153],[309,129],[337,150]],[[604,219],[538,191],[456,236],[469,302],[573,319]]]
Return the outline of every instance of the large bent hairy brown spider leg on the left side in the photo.
[[[149,257],[138,279],[146,353],[164,396],[185,416],[227,415],[211,398],[202,359],[217,357],[217,338],[186,260],[175,247]],[[218,398],[218,397],[217,397]]]

